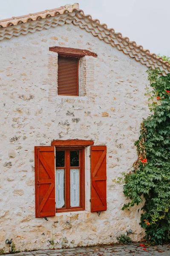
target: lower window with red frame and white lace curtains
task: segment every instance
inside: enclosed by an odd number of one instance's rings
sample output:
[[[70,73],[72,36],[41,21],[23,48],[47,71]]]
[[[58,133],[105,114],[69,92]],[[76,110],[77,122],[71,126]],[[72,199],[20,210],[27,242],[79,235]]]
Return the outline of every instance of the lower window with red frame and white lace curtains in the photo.
[[[56,148],[56,212],[85,209],[84,148]]]

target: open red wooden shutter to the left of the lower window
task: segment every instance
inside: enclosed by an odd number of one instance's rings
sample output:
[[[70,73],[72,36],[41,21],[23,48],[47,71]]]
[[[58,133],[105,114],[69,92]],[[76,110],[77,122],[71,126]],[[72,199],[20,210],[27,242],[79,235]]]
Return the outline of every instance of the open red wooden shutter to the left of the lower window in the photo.
[[[55,147],[35,147],[35,216],[55,216]]]

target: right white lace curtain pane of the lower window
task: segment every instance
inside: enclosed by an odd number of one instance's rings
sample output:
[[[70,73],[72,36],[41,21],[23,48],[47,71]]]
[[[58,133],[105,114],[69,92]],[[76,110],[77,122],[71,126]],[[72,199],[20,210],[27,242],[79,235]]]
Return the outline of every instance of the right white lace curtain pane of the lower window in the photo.
[[[70,169],[70,206],[77,207],[79,203],[80,178],[79,168]]]

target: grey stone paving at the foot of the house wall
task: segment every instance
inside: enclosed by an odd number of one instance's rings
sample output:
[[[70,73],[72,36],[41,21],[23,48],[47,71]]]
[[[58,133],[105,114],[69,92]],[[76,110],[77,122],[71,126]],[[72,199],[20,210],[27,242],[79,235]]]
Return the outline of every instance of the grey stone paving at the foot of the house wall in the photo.
[[[163,246],[149,246],[146,250],[142,249],[139,243],[130,245],[103,245],[93,247],[76,247],[71,249],[58,249],[58,250],[36,250],[30,252],[16,253],[15,256],[170,256],[170,245]],[[14,254],[7,254],[6,256],[14,256]]]

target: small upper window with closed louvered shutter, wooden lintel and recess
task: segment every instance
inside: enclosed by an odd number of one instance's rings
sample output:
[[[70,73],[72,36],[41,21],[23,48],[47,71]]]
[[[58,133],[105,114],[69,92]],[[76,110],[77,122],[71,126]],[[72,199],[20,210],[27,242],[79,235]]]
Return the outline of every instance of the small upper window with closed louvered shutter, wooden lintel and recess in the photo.
[[[58,95],[84,96],[86,79],[85,62],[82,61],[82,57],[96,58],[97,54],[86,49],[59,46],[49,47],[49,50],[58,53]]]

